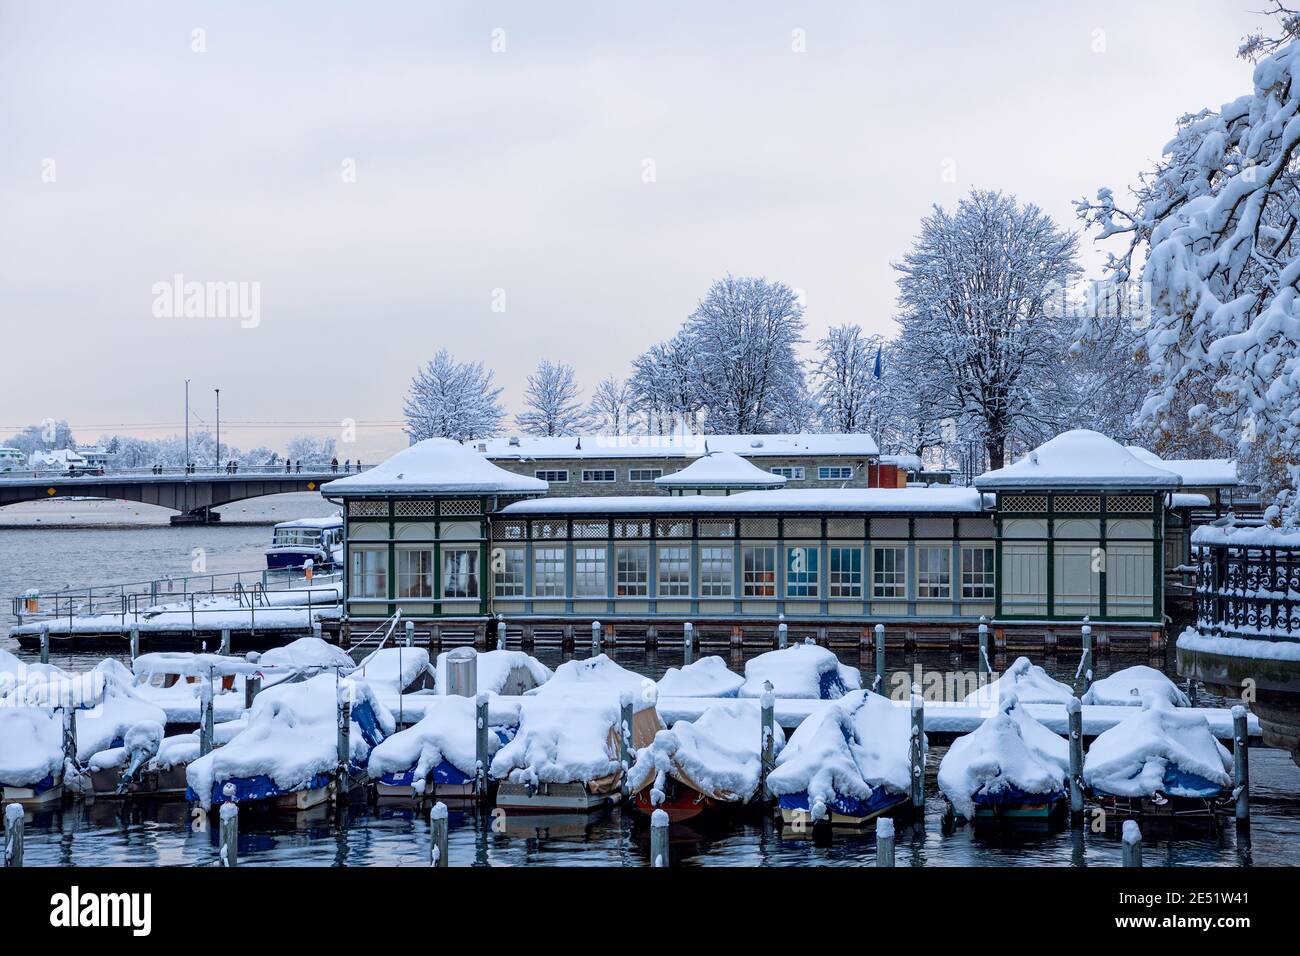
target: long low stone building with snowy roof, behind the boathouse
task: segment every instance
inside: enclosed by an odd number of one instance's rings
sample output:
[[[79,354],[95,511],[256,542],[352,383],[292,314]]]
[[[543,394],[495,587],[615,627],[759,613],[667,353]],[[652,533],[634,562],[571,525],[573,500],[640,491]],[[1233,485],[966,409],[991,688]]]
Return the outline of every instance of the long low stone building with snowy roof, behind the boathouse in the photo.
[[[516,436],[467,442],[489,462],[541,479],[550,497],[664,494],[656,485],[692,462],[727,451],[785,488],[896,488],[894,470],[880,467],[870,434],[620,434],[537,438]]]

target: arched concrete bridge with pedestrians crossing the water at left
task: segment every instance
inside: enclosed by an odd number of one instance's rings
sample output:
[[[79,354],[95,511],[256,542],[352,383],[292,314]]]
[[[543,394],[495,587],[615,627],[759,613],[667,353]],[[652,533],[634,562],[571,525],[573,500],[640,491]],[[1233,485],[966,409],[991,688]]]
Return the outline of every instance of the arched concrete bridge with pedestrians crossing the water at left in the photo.
[[[0,507],[47,498],[117,498],[178,511],[172,516],[173,524],[209,524],[221,520],[221,515],[212,510],[221,505],[268,494],[316,492],[324,483],[343,473],[346,472],[342,470],[334,472],[329,468],[292,473],[268,468],[188,475],[183,471],[77,476],[36,473],[21,477],[4,475],[0,476]]]

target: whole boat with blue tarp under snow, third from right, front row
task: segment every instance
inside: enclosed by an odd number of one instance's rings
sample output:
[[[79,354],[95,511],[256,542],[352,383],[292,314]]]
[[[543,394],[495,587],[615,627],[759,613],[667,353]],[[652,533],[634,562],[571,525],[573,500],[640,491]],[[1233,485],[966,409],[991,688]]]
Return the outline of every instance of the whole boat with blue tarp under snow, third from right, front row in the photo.
[[[818,825],[861,827],[909,806],[910,709],[870,691],[849,692],[794,730],[767,788],[796,834]]]

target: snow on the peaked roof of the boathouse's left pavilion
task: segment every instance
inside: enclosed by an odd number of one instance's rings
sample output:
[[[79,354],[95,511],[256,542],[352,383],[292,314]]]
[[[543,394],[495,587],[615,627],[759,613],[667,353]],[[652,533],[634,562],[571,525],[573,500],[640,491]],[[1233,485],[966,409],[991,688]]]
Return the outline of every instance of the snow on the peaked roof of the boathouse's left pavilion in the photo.
[[[450,438],[425,438],[382,464],[321,485],[321,494],[541,494],[541,479],[514,475]]]

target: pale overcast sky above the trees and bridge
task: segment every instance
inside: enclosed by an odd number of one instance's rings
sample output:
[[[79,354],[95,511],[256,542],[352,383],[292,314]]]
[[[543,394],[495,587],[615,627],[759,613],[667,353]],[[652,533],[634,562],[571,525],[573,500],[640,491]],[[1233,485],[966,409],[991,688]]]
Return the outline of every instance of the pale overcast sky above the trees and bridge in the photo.
[[[888,332],[931,204],[1074,228],[1249,91],[1260,7],[3,0],[0,436],[176,433],[188,377],[224,438],[354,419],[373,460],[439,347],[512,412],[540,358],[589,394],[727,272]],[[256,324],[156,316],[176,274],[257,284]]]

